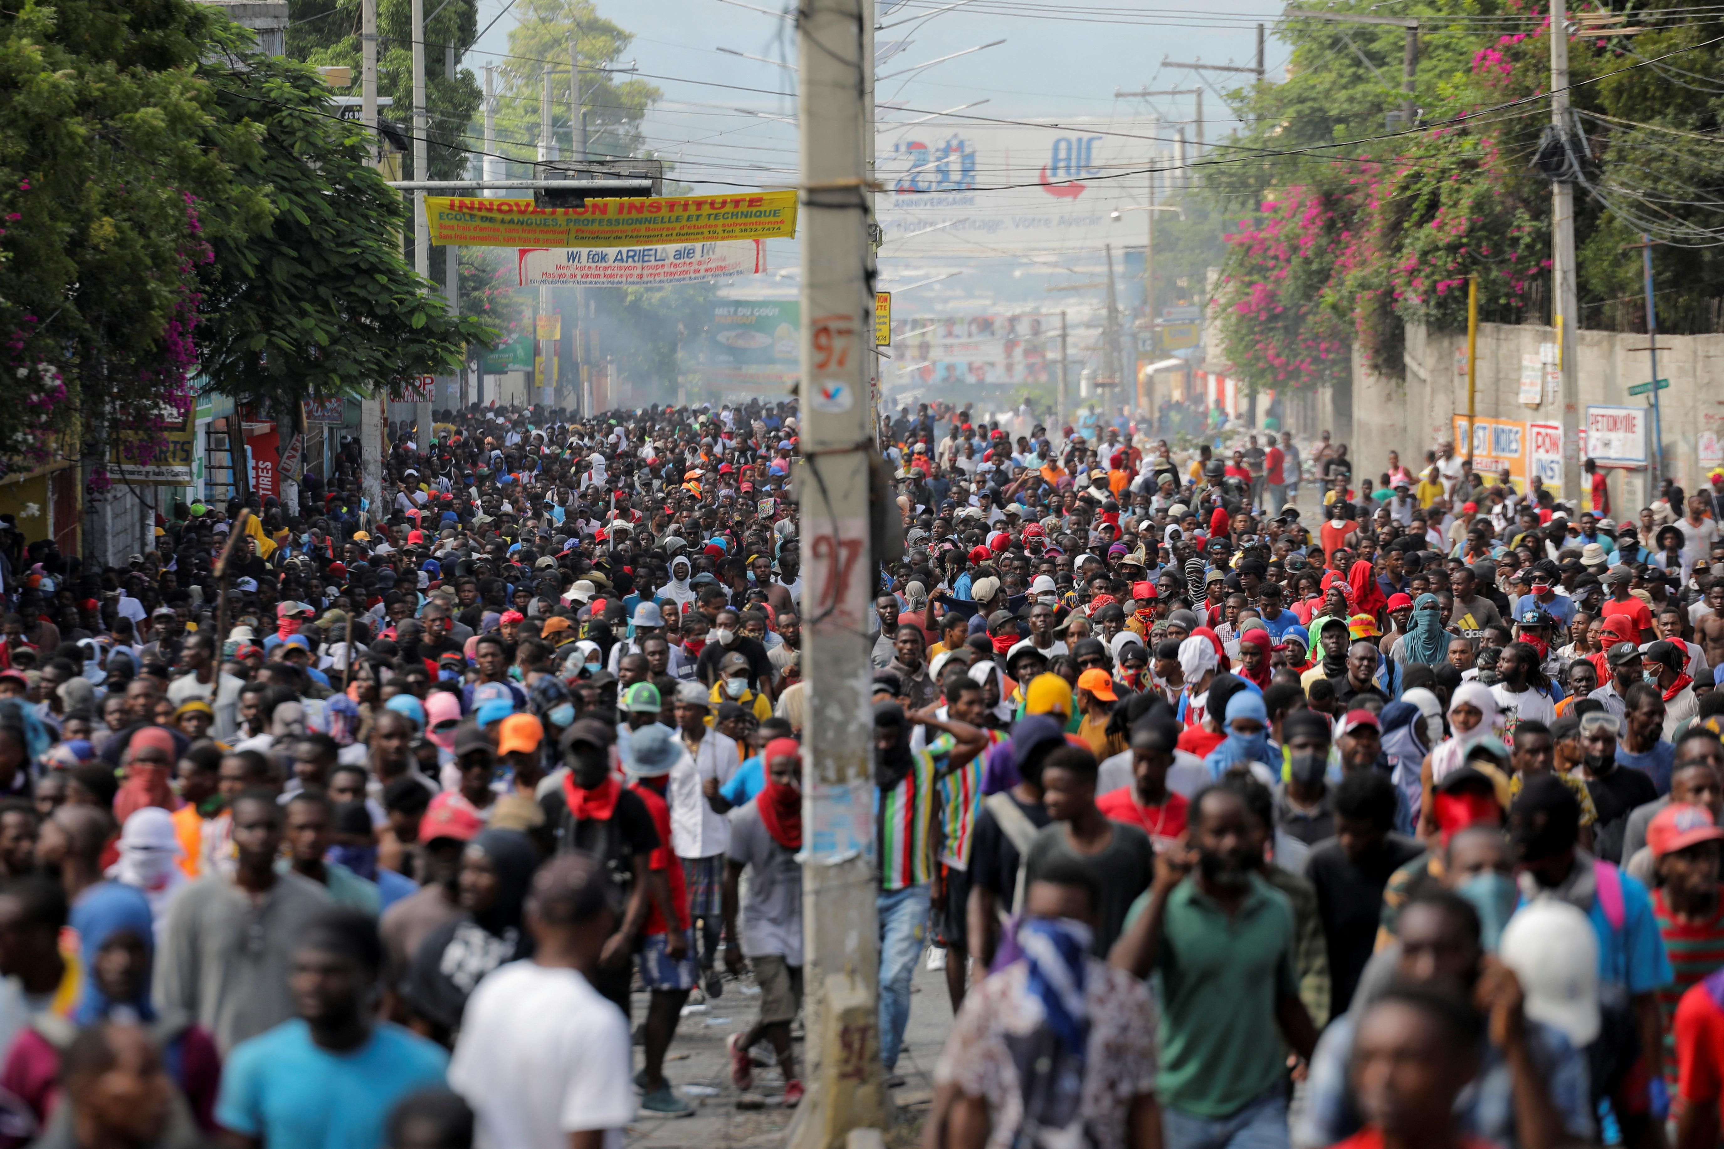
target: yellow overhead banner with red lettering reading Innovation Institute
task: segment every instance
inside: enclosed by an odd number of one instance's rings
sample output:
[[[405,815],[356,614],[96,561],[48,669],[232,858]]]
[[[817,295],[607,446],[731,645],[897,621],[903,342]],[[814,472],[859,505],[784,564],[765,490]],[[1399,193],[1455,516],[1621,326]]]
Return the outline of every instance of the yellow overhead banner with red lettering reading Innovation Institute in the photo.
[[[426,196],[431,243],[471,248],[622,248],[774,239],[796,234],[795,191],[588,200],[541,208],[533,200]]]

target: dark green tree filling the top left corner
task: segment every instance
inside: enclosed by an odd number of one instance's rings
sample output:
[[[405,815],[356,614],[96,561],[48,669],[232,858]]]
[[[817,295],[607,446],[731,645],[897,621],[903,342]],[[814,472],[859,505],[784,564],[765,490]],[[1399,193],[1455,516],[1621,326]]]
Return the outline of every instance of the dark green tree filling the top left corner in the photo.
[[[222,226],[267,215],[234,186],[197,76],[216,21],[186,0],[21,0],[0,12],[0,456],[40,463],[81,427],[148,425],[183,393]]]

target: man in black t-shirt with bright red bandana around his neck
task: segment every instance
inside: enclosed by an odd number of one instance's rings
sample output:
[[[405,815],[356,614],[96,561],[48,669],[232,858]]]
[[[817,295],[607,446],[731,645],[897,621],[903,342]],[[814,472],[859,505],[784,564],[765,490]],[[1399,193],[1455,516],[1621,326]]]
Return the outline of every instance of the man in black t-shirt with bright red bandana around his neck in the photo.
[[[652,851],[659,849],[659,830],[653,829],[646,803],[610,773],[614,741],[615,729],[597,718],[581,718],[571,725],[562,736],[562,758],[569,772],[557,789],[540,798],[540,808],[555,851],[564,854],[579,849],[598,858],[602,872],[621,896],[624,910],[617,932],[605,941],[591,980],[593,989],[614,1001],[622,1016],[629,1016],[629,960],[646,923],[646,872]]]

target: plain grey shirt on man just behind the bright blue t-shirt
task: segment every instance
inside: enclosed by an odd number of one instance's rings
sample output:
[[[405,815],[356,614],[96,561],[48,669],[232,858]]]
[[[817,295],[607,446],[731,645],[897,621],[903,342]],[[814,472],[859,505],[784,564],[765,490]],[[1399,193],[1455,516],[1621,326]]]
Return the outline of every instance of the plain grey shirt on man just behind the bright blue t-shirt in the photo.
[[[248,1037],[295,1016],[288,970],[305,925],[326,906],[322,885],[278,875],[257,903],[222,875],[179,891],[155,954],[155,1004],[179,1006],[226,1058]]]

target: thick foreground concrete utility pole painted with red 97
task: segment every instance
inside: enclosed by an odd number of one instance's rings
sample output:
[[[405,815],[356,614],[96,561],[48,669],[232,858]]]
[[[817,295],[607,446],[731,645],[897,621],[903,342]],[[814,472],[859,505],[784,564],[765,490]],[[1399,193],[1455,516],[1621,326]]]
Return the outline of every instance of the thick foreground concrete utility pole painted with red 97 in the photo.
[[[838,1149],[884,1127],[879,1061],[879,875],[874,834],[869,610],[874,556],[869,456],[876,441],[874,252],[867,107],[872,0],[800,0],[802,906],[809,1094],[793,1149]],[[886,513],[895,513],[888,506]],[[876,1144],[878,1135],[876,1135]]]

